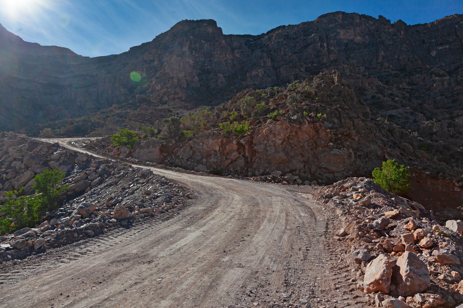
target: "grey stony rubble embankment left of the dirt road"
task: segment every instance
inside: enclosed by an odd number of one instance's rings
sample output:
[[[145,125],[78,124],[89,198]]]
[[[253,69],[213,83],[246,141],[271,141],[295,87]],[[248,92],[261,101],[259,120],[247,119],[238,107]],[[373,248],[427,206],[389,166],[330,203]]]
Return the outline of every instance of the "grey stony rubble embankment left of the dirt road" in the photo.
[[[150,169],[81,155],[16,134],[0,136],[0,157],[3,196],[22,186],[25,193],[33,193],[34,175],[44,169],[60,169],[66,173],[63,183],[69,185],[60,207],[47,212],[40,224],[0,236],[0,262],[130,227],[145,217],[172,216],[191,198],[187,188]],[[6,199],[0,199],[0,206]]]

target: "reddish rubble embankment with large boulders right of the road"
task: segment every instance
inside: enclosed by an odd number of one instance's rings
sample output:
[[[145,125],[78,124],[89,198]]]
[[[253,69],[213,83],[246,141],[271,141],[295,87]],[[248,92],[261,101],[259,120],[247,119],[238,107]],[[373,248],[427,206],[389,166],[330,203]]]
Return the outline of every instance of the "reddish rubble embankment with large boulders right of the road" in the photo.
[[[376,307],[456,307],[463,302],[463,222],[441,221],[417,202],[392,195],[371,179],[323,187],[319,200],[336,208],[332,236],[357,288]],[[458,306],[460,307],[460,306]]]

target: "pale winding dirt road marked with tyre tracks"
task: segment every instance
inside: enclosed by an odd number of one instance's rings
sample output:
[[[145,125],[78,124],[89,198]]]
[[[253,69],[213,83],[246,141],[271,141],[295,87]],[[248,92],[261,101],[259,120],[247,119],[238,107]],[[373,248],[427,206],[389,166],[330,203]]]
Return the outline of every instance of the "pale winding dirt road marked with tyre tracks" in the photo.
[[[193,205],[20,263],[3,273],[0,307],[365,307],[310,194],[151,169],[192,188]]]

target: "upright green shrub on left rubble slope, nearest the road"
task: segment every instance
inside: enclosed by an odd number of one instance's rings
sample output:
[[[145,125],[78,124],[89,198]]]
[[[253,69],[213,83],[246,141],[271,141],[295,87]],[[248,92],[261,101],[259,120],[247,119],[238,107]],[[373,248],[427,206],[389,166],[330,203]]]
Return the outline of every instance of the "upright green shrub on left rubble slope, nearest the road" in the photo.
[[[56,208],[56,201],[61,197],[63,191],[69,188],[68,185],[61,185],[64,175],[65,173],[56,169],[44,170],[34,177],[35,184],[32,185],[32,188],[43,197],[48,211]]]

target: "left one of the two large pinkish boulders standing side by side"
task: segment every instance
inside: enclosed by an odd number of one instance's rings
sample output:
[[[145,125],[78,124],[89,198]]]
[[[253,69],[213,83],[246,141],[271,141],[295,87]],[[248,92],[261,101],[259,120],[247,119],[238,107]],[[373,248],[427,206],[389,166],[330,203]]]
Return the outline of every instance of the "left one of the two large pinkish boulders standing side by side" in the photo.
[[[372,260],[365,270],[363,290],[365,293],[388,294],[391,287],[392,264],[384,254]]]

